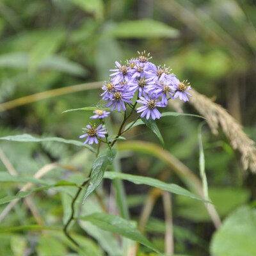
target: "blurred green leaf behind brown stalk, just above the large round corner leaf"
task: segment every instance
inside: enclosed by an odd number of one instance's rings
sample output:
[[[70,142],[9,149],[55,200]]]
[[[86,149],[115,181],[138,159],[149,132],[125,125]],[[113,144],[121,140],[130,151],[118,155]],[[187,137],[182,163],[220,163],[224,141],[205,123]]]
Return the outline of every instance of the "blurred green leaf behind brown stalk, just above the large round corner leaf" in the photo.
[[[245,204],[250,198],[248,190],[243,188],[209,188],[209,196],[212,204],[220,217],[227,216],[228,213],[236,209],[241,204]],[[211,218],[204,205],[188,200],[184,196],[177,196],[177,215],[188,220],[200,222],[211,221]]]

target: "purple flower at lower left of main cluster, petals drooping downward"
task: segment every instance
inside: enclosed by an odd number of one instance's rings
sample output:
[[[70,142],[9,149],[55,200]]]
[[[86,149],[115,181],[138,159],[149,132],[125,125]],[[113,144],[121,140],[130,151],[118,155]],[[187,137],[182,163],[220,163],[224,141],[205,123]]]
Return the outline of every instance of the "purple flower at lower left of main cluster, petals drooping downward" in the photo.
[[[107,107],[112,106],[111,111],[114,111],[114,109],[117,107],[117,111],[120,112],[121,107],[125,111],[125,102],[126,103],[132,103],[130,99],[134,96],[133,92],[118,92],[116,91],[112,95],[111,102],[107,105]]]

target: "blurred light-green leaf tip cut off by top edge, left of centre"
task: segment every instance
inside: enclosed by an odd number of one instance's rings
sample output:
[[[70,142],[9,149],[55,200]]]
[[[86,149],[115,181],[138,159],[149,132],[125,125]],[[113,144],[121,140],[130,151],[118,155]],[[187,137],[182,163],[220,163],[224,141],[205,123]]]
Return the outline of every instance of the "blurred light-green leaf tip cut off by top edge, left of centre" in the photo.
[[[72,3],[76,4],[82,8],[85,12],[95,13],[97,19],[103,18],[103,1],[102,0],[70,0]]]

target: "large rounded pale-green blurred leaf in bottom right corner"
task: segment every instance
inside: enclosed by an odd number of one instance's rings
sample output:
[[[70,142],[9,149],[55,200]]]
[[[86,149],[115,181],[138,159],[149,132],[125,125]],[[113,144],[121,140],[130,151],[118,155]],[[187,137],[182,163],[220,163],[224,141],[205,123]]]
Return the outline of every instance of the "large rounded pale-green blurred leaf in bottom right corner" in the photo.
[[[241,207],[225,219],[211,241],[211,253],[216,256],[255,256],[256,211]]]

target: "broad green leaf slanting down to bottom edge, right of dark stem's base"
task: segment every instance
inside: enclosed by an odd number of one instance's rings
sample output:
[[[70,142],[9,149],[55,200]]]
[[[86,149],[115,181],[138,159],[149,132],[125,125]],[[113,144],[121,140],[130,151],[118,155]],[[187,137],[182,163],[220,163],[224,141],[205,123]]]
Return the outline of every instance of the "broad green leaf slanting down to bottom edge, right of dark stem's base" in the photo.
[[[90,223],[96,227],[114,232],[133,241],[137,241],[138,243],[147,246],[154,252],[160,253],[158,252],[157,248],[147,240],[146,237],[144,237],[136,228],[134,228],[132,223],[119,216],[97,212],[88,216],[79,217],[79,219],[90,221]]]

